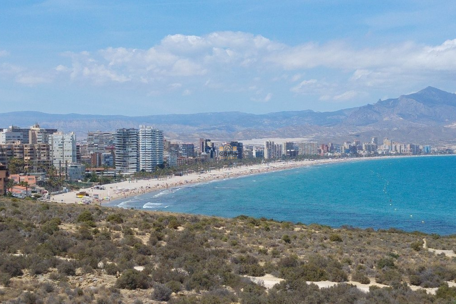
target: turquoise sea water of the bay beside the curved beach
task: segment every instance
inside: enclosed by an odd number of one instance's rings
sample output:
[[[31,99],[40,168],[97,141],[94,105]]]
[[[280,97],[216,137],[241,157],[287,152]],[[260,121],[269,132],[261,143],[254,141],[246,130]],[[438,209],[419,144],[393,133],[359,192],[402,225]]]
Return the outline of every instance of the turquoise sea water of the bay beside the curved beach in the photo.
[[[340,227],[456,233],[456,156],[360,160],[249,175],[108,206]]]

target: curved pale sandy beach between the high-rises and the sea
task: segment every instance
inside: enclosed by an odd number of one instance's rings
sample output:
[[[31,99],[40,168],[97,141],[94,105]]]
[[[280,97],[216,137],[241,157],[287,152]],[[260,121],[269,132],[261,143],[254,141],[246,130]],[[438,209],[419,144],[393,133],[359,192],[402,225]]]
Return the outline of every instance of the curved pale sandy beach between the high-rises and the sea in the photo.
[[[430,156],[451,156],[451,155],[398,155],[398,156],[373,156],[373,157],[360,157],[360,158],[334,158],[334,159],[322,159],[322,160],[290,160],[290,161],[274,161],[268,164],[261,165],[243,165],[237,168],[212,170],[206,173],[191,173],[183,176],[172,176],[166,180],[126,180],[119,183],[105,184],[104,190],[98,190],[92,188],[83,188],[78,191],[69,191],[52,196],[51,201],[63,202],[67,204],[75,203],[81,204],[82,199],[76,197],[76,193],[79,191],[86,191],[90,195],[92,200],[91,204],[105,205],[112,201],[118,201],[120,199],[126,199],[131,196],[138,196],[141,194],[160,191],[164,189],[171,189],[179,186],[194,185],[204,183],[213,180],[223,180],[227,178],[234,178],[240,176],[249,176],[264,174],[269,172],[276,172],[282,170],[291,170],[296,168],[307,167],[311,165],[325,165],[325,164],[337,164],[345,163],[350,161],[362,161],[362,160],[382,160],[391,158],[405,158],[405,157],[430,157]],[[223,170],[223,171],[222,171]],[[94,201],[93,195],[98,195],[100,201]]]

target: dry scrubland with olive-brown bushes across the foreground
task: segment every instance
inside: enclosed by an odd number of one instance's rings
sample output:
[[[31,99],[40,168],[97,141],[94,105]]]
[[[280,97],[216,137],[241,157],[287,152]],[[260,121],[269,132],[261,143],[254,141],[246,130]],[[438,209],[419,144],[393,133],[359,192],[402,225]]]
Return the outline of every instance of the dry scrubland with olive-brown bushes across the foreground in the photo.
[[[0,301],[454,303],[456,260],[423,237],[456,248],[455,237],[393,229],[0,199]],[[246,277],[264,274],[285,280],[265,289]],[[326,280],[342,283],[306,283]]]

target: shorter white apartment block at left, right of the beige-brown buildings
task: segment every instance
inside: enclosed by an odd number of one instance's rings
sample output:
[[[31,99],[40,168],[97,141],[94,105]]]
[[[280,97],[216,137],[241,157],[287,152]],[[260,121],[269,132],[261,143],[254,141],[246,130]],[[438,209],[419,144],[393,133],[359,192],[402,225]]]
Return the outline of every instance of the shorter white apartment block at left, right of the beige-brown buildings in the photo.
[[[56,132],[49,135],[52,165],[63,168],[76,162],[76,135]]]

